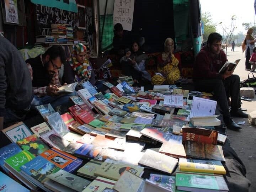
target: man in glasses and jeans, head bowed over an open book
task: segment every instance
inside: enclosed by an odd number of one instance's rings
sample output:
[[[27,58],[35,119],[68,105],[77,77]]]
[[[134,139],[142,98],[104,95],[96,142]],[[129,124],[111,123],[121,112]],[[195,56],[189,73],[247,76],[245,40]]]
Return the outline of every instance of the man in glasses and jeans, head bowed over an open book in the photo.
[[[59,70],[65,62],[65,52],[61,46],[52,46],[44,54],[26,60],[34,91],[32,107],[50,103],[55,108],[75,95],[57,93],[61,86]]]

